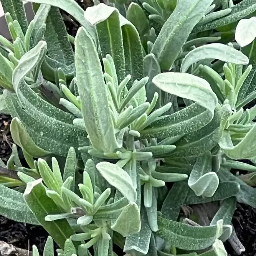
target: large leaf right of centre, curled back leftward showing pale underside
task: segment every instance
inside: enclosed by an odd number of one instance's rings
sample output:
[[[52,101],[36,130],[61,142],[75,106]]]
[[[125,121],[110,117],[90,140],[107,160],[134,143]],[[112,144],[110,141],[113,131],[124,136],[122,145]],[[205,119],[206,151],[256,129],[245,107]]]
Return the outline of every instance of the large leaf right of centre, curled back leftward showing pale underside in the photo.
[[[150,124],[140,131],[143,138],[162,139],[193,132],[213,119],[218,99],[204,79],[192,74],[169,72],[155,76],[152,81],[161,90],[195,103]]]

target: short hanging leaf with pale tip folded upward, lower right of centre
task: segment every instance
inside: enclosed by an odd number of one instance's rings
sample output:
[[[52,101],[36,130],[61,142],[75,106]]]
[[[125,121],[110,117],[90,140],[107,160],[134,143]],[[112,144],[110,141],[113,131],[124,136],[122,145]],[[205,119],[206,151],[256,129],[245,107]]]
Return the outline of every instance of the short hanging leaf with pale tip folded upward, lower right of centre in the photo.
[[[219,178],[216,172],[211,171],[211,152],[197,158],[190,177],[188,186],[197,196],[212,197],[219,185]]]

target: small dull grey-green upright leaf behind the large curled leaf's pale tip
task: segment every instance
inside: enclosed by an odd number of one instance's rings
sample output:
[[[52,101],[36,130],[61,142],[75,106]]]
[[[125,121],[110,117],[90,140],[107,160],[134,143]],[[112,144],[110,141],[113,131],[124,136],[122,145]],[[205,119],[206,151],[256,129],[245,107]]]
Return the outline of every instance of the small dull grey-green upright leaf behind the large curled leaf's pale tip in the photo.
[[[150,53],[144,57],[143,64],[144,64],[144,76],[149,77],[149,81],[145,86],[146,96],[147,96],[147,100],[151,102],[154,98],[155,92],[157,92],[160,95],[161,90],[157,86],[155,86],[154,83],[152,83],[152,79],[154,78],[154,76],[161,73],[161,69],[157,61],[157,58],[153,53]],[[160,106],[160,100],[157,101],[156,106],[157,108]]]

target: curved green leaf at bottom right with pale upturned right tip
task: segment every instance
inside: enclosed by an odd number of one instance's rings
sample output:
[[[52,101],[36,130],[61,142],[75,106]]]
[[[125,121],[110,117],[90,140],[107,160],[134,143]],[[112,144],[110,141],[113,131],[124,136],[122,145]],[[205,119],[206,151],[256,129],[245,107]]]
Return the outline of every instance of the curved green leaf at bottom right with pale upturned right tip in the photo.
[[[215,226],[196,227],[158,217],[157,235],[172,246],[186,250],[201,250],[211,246],[222,233],[222,220]]]

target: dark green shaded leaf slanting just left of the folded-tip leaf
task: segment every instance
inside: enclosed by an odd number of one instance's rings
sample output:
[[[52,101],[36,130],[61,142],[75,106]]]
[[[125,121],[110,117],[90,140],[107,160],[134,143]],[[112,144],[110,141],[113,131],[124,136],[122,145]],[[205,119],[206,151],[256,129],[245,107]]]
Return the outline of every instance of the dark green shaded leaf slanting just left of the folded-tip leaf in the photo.
[[[180,214],[181,206],[185,204],[188,193],[187,182],[175,182],[172,185],[167,197],[161,208],[164,218],[176,221]]]

